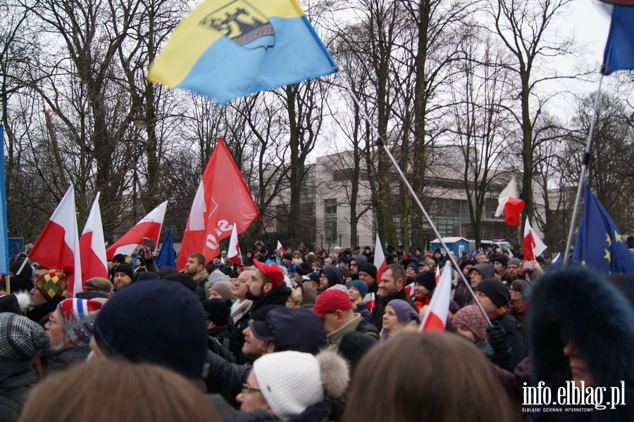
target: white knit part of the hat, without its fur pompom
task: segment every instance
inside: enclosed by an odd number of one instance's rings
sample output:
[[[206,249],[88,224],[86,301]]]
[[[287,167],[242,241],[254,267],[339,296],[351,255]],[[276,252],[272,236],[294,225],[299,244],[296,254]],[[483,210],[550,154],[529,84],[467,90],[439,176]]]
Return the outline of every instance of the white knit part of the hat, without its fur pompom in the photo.
[[[323,400],[319,362],[310,353],[265,354],[254,362],[253,371],[266,403],[282,421]]]

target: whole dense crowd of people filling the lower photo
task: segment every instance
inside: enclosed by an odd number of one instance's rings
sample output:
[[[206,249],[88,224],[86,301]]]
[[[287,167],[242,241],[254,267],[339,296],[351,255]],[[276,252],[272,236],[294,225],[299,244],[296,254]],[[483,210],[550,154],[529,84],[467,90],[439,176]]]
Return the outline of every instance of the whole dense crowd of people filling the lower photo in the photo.
[[[0,422],[634,420],[628,276],[502,250],[449,269],[440,249],[399,247],[380,270],[369,247],[271,249],[177,271],[139,248],[75,298],[72,267],[15,260]],[[445,331],[421,333],[447,262]],[[526,403],[568,383],[620,388],[620,404]]]

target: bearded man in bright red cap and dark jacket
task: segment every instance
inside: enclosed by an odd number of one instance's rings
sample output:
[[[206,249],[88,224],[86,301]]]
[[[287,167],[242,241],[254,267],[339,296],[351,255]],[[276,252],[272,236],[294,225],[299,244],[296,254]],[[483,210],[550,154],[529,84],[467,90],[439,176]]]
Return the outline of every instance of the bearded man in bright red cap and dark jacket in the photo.
[[[285,305],[290,296],[290,288],[284,282],[284,274],[278,264],[263,264],[258,260],[253,262],[256,271],[247,281],[247,299],[253,300],[251,309],[255,311],[266,305]]]

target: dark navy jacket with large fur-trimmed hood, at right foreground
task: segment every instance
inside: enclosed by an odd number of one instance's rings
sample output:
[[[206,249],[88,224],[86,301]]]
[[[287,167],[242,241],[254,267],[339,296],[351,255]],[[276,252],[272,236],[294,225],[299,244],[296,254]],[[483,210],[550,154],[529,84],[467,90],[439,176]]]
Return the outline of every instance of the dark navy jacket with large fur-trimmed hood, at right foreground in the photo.
[[[572,379],[564,340],[570,338],[588,366],[594,384],[611,388],[624,382],[627,405],[580,413],[533,413],[534,421],[634,421],[634,307],[614,286],[584,267],[549,271],[533,285],[528,328],[533,383],[545,381],[551,391]]]

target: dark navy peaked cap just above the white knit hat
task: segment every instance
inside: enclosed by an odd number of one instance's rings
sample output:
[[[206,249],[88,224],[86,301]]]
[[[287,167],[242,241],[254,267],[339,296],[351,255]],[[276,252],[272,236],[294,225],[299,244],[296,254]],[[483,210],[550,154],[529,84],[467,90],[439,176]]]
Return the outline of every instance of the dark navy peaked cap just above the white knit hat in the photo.
[[[256,338],[275,342],[275,352],[316,354],[326,345],[323,324],[312,309],[276,307],[265,321],[249,321],[249,326]]]

